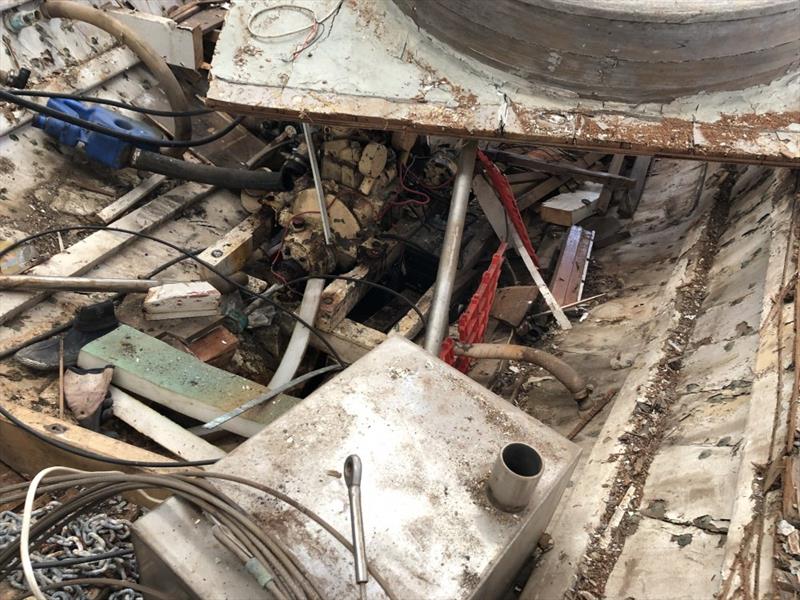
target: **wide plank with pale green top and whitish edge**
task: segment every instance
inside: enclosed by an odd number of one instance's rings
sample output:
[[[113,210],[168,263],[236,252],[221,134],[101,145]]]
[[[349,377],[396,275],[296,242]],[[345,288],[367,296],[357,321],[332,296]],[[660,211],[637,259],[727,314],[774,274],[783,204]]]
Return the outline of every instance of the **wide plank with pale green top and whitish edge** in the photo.
[[[267,391],[126,325],[84,346],[78,365],[84,369],[113,365],[114,385],[203,422]],[[224,428],[251,436],[298,402],[282,394],[228,421]]]

